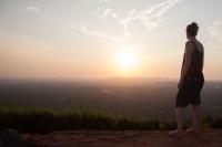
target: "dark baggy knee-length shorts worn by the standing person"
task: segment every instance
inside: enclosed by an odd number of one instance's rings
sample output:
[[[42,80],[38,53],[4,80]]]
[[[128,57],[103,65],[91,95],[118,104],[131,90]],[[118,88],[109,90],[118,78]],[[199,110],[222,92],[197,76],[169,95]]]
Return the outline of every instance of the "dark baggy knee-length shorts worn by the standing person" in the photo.
[[[181,87],[179,88],[175,106],[176,107],[186,107],[189,104],[191,105],[200,105],[201,104],[201,90],[203,87],[204,80],[185,80]]]

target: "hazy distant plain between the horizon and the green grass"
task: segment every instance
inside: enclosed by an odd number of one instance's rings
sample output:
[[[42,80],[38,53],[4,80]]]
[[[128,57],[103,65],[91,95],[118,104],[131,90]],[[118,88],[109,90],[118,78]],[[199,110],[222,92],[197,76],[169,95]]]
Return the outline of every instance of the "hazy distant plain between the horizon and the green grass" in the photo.
[[[91,107],[134,118],[173,118],[178,81],[114,77],[108,80],[1,80],[0,103],[50,108]],[[206,81],[202,114],[222,115],[222,82]],[[186,111],[186,114],[190,113]]]

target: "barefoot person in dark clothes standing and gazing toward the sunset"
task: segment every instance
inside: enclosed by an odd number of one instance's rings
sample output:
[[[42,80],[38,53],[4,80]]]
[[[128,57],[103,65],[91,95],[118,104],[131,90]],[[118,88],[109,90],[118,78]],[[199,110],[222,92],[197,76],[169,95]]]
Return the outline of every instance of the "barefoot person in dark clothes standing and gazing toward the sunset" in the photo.
[[[188,129],[189,133],[200,132],[200,93],[204,83],[203,59],[204,49],[200,41],[195,39],[199,27],[192,22],[186,27],[185,53],[183,55],[183,64],[181,69],[181,77],[178,84],[178,95],[175,98],[176,105],[176,123],[178,129],[171,130],[169,134],[176,138],[182,137],[184,108],[190,104],[192,106],[193,126]]]

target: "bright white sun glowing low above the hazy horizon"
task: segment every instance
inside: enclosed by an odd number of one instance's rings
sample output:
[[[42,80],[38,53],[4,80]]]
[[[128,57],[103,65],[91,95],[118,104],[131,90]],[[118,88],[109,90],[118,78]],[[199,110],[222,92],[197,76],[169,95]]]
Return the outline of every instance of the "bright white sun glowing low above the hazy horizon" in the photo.
[[[115,55],[115,66],[118,72],[128,75],[137,71],[139,57],[135,49],[124,46],[118,50]]]

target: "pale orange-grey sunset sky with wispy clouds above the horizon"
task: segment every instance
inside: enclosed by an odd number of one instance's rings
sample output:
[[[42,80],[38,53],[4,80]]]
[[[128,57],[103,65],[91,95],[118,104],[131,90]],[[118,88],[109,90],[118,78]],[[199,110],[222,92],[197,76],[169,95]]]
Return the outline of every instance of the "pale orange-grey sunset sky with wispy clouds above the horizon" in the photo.
[[[195,21],[205,80],[222,80],[221,13],[220,0],[0,0],[0,78],[179,78]]]

